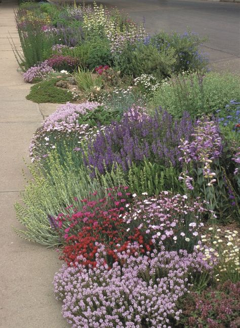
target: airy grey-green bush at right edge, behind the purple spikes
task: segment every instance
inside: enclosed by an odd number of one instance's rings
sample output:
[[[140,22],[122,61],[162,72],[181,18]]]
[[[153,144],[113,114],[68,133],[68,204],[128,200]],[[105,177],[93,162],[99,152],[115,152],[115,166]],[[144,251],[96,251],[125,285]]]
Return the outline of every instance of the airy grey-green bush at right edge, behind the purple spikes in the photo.
[[[174,117],[187,111],[192,118],[214,114],[230,100],[240,99],[240,78],[232,74],[184,73],[162,83],[150,107],[162,106]]]

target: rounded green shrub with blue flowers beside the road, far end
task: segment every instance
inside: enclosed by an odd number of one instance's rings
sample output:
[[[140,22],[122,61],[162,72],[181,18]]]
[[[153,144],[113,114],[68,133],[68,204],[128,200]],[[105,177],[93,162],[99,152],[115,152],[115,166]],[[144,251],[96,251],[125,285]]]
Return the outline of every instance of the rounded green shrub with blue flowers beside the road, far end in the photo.
[[[184,70],[206,70],[208,60],[198,50],[204,40],[190,32],[160,32],[138,44],[128,43],[114,56],[114,64],[123,74],[151,74],[157,79]]]

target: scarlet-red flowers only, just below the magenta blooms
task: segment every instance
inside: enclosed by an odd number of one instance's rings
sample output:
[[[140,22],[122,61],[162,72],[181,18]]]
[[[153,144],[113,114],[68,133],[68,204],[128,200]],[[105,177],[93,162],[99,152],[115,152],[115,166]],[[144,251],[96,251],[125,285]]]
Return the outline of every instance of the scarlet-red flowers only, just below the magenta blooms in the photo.
[[[101,223],[96,223],[94,220],[89,221],[76,236],[68,237],[67,245],[63,248],[60,259],[64,259],[68,265],[77,262],[95,267],[99,244],[103,244],[106,251],[105,264],[111,268],[114,262],[119,261],[118,255],[127,251],[130,243],[137,242],[141,253],[151,250],[152,243],[144,242],[144,236],[137,228],[134,235],[128,235],[123,220],[118,215],[114,217],[111,214],[108,213]],[[139,253],[137,247],[136,249],[131,248],[129,254],[134,255],[136,252]]]

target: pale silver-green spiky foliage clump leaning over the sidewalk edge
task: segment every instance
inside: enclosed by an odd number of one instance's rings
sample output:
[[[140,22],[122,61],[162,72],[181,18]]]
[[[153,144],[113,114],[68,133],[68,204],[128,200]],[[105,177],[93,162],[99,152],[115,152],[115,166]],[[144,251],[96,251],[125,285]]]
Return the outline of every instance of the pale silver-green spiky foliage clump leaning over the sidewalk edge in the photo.
[[[65,207],[73,204],[74,197],[79,200],[89,198],[90,192],[104,193],[98,182],[92,181],[84,166],[73,168],[70,153],[60,162],[56,150],[49,154],[48,170],[39,164],[30,165],[33,177],[28,181],[21,195],[21,202],[15,204],[17,218],[25,229],[16,229],[16,233],[33,242],[47,246],[59,245],[57,231],[51,227],[48,215],[57,216]]]

